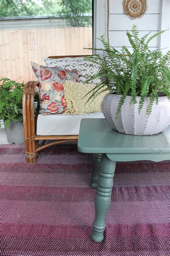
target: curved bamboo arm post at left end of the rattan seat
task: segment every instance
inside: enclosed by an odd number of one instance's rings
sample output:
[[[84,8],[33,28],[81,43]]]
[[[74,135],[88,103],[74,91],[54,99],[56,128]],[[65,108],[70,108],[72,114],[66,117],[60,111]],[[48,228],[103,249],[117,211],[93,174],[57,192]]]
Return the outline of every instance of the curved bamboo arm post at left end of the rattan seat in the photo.
[[[29,81],[25,84],[23,90],[23,125],[24,125],[24,140],[25,140],[25,152],[28,158],[34,157],[31,155],[36,150],[36,144],[32,141],[32,138],[36,135],[36,125],[34,122],[34,95],[38,81]],[[29,154],[30,152],[30,154]],[[26,159],[27,159],[26,158]],[[28,162],[27,161],[27,162]]]

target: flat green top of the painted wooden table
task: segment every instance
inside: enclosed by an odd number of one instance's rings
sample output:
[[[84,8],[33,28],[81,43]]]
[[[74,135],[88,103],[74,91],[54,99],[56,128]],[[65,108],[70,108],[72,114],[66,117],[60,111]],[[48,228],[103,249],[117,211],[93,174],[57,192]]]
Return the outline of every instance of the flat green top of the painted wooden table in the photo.
[[[155,135],[114,131],[105,118],[81,120],[78,150],[82,153],[170,153],[170,126]]]

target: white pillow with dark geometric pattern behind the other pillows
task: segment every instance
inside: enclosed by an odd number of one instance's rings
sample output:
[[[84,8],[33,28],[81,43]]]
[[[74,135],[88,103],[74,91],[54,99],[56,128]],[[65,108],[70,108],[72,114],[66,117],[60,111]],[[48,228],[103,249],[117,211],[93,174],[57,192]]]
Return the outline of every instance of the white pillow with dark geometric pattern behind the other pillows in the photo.
[[[100,64],[95,64],[84,60],[84,57],[66,57],[61,59],[49,59],[44,58],[46,63],[46,67],[54,68],[54,67],[61,67],[65,69],[77,69],[79,74],[79,81],[86,81],[93,75],[95,75],[100,70]],[[101,81],[100,78],[95,78],[89,82],[93,82],[94,84],[98,84]]]

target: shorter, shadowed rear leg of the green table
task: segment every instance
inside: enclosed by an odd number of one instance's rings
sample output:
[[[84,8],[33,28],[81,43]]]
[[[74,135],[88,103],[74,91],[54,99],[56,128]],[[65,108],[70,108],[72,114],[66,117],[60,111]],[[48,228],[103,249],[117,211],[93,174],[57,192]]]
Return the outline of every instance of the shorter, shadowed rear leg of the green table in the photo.
[[[91,174],[91,182],[90,182],[90,187],[92,188],[96,188],[98,185],[100,159],[101,159],[101,154],[93,154],[93,160],[92,160],[93,172]]]

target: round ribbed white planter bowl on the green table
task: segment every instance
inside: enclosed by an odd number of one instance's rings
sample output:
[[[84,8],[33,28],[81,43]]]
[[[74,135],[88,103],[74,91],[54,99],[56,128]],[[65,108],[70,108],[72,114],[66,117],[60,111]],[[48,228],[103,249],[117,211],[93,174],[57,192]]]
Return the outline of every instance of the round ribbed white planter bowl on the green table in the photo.
[[[158,105],[154,101],[152,113],[149,116],[146,110],[150,97],[146,97],[139,115],[138,105],[141,97],[137,96],[137,103],[130,105],[132,96],[126,96],[118,121],[116,121],[115,116],[120,98],[121,95],[108,93],[101,104],[104,116],[114,130],[133,135],[152,135],[161,133],[170,124],[170,102],[166,96],[159,97]]]

